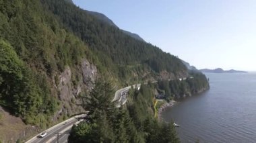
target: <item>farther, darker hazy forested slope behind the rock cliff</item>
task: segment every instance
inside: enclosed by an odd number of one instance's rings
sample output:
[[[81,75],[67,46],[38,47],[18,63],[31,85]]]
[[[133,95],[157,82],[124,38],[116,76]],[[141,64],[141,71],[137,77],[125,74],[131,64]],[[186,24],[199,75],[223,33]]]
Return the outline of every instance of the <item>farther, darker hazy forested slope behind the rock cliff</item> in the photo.
[[[147,70],[153,75],[162,70],[175,75],[187,72],[179,58],[127,36],[115,26],[100,21],[75,5],[59,0],[43,0],[42,3],[61,20],[65,28],[86,42],[100,63],[121,80],[133,81],[132,73],[143,75]],[[134,65],[137,66],[130,68]]]

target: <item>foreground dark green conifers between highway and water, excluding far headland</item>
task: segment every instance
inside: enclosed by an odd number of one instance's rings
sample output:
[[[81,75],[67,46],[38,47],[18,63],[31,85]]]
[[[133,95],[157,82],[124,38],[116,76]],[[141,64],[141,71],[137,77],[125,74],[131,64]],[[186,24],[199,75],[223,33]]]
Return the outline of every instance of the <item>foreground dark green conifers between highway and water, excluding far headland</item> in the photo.
[[[87,122],[73,126],[69,142],[179,142],[172,124],[153,117],[152,88],[142,85],[139,91],[130,91],[127,105],[117,108],[111,102],[111,84],[96,81],[90,96],[84,97],[90,111]]]

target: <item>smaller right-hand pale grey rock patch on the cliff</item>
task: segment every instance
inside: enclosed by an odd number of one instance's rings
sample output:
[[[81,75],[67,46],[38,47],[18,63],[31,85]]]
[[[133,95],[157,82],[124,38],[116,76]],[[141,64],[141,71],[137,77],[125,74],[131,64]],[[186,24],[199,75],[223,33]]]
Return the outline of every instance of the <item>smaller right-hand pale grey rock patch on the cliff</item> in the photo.
[[[94,83],[97,77],[97,68],[93,64],[90,64],[88,60],[84,60],[81,65],[82,75],[84,83],[89,89],[92,89],[92,83]]]

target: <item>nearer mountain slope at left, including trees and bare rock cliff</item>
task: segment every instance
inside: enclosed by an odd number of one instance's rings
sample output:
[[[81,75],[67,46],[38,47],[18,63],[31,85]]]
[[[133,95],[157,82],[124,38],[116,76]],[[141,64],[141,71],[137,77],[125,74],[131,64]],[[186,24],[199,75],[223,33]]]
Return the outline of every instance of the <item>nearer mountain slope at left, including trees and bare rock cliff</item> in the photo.
[[[40,1],[1,1],[0,19],[0,105],[40,128],[83,111],[77,96],[94,77],[86,58],[97,62],[88,46]]]

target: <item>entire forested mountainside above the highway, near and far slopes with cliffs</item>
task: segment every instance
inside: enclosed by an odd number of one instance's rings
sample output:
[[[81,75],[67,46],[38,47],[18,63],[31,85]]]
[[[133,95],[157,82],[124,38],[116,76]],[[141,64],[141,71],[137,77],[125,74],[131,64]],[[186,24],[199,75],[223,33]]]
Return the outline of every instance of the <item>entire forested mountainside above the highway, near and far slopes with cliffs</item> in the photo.
[[[71,2],[0,0],[0,105],[26,124],[43,129],[82,113],[97,77],[116,89],[189,77],[179,58]]]

